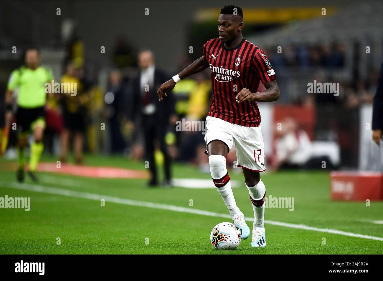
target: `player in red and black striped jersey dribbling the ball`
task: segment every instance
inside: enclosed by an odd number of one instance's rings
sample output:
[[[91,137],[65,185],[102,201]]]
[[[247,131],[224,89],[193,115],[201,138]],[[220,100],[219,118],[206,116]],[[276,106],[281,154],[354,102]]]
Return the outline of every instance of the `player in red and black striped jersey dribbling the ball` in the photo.
[[[265,52],[242,37],[242,9],[224,6],[217,24],[218,38],[207,41],[203,45],[202,57],[162,84],[157,96],[161,101],[178,81],[210,67],[213,97],[206,117],[205,141],[211,177],[234,224],[241,230],[241,238],[246,239],[250,229],[237,207],[226,169],[226,156],[234,142],[237,166],[242,167],[254,210],[251,246],[265,247],[266,188],[259,172],[266,168],[257,101],[277,101],[279,88]],[[260,81],[266,90],[257,92]]]

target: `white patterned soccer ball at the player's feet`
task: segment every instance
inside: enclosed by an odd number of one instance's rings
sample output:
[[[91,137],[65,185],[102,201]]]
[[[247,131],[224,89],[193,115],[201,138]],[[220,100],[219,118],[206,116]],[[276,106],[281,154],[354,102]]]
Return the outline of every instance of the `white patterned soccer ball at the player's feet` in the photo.
[[[241,243],[241,231],[232,223],[219,223],[210,233],[210,242],[217,250],[234,250]]]

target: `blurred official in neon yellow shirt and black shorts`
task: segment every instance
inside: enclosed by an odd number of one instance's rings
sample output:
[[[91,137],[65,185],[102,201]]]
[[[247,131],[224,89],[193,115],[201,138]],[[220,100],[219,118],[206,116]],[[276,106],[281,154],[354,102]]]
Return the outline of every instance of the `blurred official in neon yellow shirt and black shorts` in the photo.
[[[27,137],[33,132],[33,143],[29,159],[28,175],[37,181],[36,168],[43,153],[43,135],[45,123],[45,102],[47,93],[45,83],[54,80],[49,67],[40,66],[40,53],[38,49],[30,48],[25,53],[25,65],[12,71],[5,93],[5,120],[10,123],[12,118],[12,93],[18,88],[16,112],[16,130],[18,132],[18,172],[19,182],[24,180],[25,147]]]

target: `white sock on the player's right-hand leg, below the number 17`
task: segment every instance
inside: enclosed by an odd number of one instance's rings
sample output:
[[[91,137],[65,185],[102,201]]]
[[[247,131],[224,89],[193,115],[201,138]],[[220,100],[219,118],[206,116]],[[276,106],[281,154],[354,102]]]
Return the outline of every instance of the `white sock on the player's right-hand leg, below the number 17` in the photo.
[[[253,206],[254,211],[254,227],[265,227],[264,217],[265,217],[265,195],[266,187],[262,180],[258,182],[253,187],[248,187],[246,182],[245,185],[249,190],[250,200]]]

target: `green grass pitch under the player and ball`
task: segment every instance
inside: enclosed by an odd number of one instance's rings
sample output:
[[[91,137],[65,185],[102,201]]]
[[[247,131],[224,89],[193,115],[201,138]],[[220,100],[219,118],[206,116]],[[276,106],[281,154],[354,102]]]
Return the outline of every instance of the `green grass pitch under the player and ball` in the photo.
[[[44,161],[55,162],[44,156]],[[236,250],[219,251],[210,244],[210,231],[230,219],[67,197],[10,188],[15,172],[0,159],[0,197],[30,197],[31,210],[0,209],[0,254],[381,254],[383,241],[265,224],[267,246],[250,248],[251,236]],[[144,169],[141,162],[122,157],[87,156],[87,165]],[[81,169],[79,167],[79,169]],[[241,173],[229,171],[243,182]],[[93,179],[40,172],[39,186],[61,188],[131,200],[175,205],[228,214],[214,188],[148,188],[144,179]],[[175,164],[176,178],[211,179],[195,167]],[[286,171],[262,175],[267,196],[294,197],[295,210],[266,208],[265,219],[283,223],[383,237],[383,202],[330,200],[328,171]],[[25,184],[33,185],[26,177]],[[237,205],[254,216],[246,187],[233,188]],[[193,200],[193,206],[189,206]],[[252,223],[248,222],[250,229]],[[60,237],[61,245],[56,244]],[[323,238],[326,244],[322,244]]]

